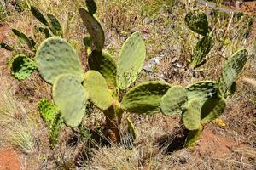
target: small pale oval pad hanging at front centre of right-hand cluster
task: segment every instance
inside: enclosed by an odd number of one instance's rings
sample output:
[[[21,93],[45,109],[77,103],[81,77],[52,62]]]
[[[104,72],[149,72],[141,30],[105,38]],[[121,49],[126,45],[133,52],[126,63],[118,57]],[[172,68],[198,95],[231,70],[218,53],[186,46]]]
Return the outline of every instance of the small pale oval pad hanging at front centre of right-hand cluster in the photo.
[[[183,112],[184,126],[189,130],[201,127],[201,105],[199,99],[190,99]]]

